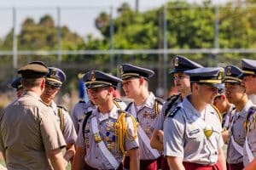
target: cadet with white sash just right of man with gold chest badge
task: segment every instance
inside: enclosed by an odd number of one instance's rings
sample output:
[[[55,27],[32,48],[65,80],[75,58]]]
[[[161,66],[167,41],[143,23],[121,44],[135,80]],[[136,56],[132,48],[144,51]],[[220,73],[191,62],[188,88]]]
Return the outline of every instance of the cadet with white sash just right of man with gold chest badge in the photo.
[[[230,103],[236,106],[230,122],[230,138],[227,149],[227,162],[230,170],[243,168],[243,144],[246,138],[244,122],[246,122],[249,108],[253,105],[252,101],[248,99],[239,77],[241,73],[241,69],[235,65],[225,67],[225,93]]]

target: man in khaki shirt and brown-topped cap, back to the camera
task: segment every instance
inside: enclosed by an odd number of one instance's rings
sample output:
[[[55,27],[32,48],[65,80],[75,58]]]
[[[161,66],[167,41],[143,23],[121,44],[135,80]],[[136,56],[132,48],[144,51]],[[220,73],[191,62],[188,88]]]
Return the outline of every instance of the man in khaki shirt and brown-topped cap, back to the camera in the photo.
[[[25,92],[0,115],[0,150],[7,168],[64,170],[65,140],[53,111],[40,99],[48,68],[34,61],[18,73]]]

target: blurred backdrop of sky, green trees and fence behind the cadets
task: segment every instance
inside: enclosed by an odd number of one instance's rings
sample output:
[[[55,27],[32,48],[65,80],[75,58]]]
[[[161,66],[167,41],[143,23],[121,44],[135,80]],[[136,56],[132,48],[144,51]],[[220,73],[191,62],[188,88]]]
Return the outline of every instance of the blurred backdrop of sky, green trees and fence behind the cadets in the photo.
[[[9,83],[32,60],[65,71],[56,100],[68,111],[79,101],[79,73],[119,76],[123,63],[154,70],[150,89],[166,99],[176,54],[204,66],[256,59],[255,9],[256,0],[2,1],[0,107],[15,99]]]

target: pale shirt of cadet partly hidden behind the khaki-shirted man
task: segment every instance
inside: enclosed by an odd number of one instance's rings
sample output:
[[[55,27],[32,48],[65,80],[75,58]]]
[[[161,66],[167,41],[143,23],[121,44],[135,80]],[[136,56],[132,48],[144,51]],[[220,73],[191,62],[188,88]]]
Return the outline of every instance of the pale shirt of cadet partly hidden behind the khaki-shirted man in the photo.
[[[61,124],[61,119],[58,113],[58,107],[55,104],[54,101],[51,102],[50,107],[52,108],[52,110],[55,113],[55,116],[57,118],[57,122],[59,123],[59,125]],[[71,117],[69,116],[68,112],[66,110],[64,110],[63,108],[61,108],[61,112],[63,114],[63,129],[61,129],[64,139],[66,141],[67,144],[74,144],[76,139],[77,139],[77,133],[76,130],[73,126],[73,122],[71,120]]]

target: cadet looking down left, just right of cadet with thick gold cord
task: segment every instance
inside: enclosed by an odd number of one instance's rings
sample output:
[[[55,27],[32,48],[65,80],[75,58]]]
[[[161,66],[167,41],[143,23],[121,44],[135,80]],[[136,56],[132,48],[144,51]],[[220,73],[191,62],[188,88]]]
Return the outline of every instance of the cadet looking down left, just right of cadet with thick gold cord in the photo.
[[[148,91],[148,79],[154,76],[154,71],[124,64],[120,66],[120,76],[123,80],[125,95],[134,99],[127,106],[126,111],[135,116],[139,122],[140,169],[157,169],[157,159],[160,158],[160,152],[150,146],[150,138],[153,133],[151,124],[160,113],[163,100],[156,98],[152,92]],[[129,157],[125,157],[125,168],[129,168],[126,163],[128,160]]]

